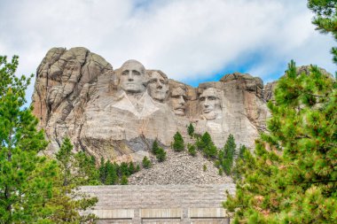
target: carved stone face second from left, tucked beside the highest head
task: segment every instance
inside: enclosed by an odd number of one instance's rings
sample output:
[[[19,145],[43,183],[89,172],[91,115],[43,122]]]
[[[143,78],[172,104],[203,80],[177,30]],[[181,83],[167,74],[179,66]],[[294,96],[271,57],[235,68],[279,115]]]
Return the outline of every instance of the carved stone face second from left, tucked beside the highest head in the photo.
[[[168,78],[163,77],[159,72],[153,72],[149,82],[150,96],[160,102],[164,101],[169,91],[167,82]]]

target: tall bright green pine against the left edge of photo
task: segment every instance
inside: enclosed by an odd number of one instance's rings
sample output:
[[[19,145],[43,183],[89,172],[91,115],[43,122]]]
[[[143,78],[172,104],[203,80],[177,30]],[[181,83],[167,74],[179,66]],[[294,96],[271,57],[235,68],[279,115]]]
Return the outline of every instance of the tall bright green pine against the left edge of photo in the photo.
[[[30,78],[15,76],[18,57],[0,56],[0,219],[2,223],[48,221],[55,161],[38,156],[47,142],[32,108],[24,108]]]

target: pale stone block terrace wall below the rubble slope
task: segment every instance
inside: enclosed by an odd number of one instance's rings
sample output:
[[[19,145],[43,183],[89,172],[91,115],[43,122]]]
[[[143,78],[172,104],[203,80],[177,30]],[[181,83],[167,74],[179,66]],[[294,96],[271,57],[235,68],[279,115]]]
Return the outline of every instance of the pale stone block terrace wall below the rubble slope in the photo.
[[[81,191],[98,197],[91,211],[98,223],[229,223],[222,207],[223,185],[85,186]]]

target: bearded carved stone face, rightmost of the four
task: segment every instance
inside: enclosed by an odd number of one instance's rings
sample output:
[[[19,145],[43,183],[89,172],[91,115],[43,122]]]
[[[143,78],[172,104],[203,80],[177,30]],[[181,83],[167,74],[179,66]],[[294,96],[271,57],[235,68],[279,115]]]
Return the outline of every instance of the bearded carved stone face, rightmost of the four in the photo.
[[[221,102],[213,88],[205,89],[200,95],[201,114],[206,120],[216,120],[221,114]]]

